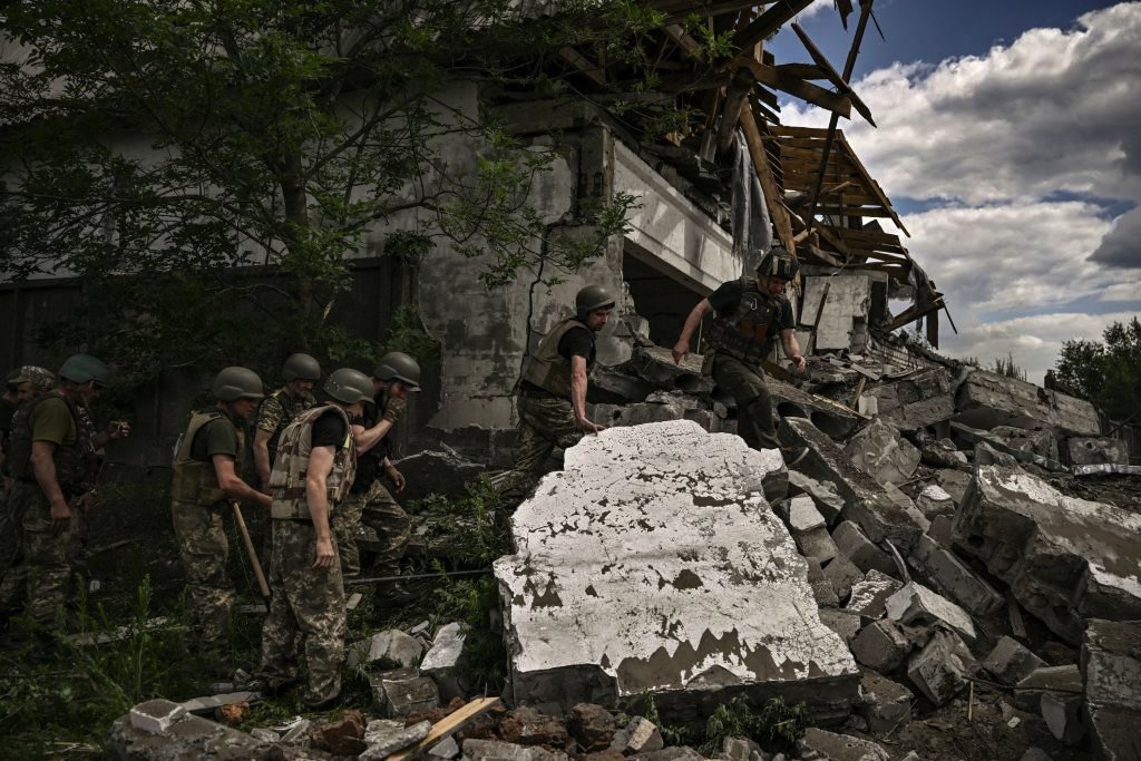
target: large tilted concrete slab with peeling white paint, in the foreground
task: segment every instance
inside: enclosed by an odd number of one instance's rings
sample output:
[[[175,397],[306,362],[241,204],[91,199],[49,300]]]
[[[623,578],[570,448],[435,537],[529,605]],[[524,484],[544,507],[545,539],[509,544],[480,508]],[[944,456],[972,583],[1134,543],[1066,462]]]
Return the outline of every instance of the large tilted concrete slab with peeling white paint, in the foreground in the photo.
[[[856,663],[763,497],[783,468],[691,421],[568,450],[515,513],[516,554],[495,562],[515,699],[567,710],[649,691],[685,721],[747,691],[850,712]]]

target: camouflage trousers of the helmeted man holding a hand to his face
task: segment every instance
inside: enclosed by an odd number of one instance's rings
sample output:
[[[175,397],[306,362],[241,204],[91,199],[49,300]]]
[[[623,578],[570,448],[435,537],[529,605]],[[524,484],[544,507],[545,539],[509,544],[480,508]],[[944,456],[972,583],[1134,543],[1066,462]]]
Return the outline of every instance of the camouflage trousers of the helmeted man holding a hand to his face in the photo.
[[[349,494],[333,511],[333,536],[341,558],[345,578],[361,575],[361,552],[357,549],[357,528],[363,523],[377,532],[380,551],[373,569],[380,576],[395,576],[400,570],[400,558],[408,545],[412,521],[404,508],[379,481],[369,485],[367,492]]]

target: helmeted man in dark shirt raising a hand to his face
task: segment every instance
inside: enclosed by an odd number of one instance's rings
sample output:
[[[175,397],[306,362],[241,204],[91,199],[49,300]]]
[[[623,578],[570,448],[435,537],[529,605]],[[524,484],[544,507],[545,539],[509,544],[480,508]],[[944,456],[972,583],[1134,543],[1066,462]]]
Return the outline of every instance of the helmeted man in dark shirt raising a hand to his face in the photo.
[[[346,578],[361,573],[356,533],[362,521],[380,539],[381,549],[373,565],[380,576],[399,574],[412,526],[407,513],[380,483],[380,473],[383,471],[397,494],[404,491],[404,476],[389,459],[389,434],[404,414],[408,392],[420,390],[420,365],[402,351],[391,351],[381,357],[371,382],[373,404],[365,410],[362,424],[353,427],[357,443],[357,477],[333,521]],[[397,605],[410,598],[411,594],[396,582],[377,589],[380,602]]]

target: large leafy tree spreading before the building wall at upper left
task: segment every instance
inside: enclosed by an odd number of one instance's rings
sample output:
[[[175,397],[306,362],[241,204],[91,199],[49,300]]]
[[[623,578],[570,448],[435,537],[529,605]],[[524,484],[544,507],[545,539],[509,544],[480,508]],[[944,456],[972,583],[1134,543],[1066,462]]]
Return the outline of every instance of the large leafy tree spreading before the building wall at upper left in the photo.
[[[46,332],[152,375],[365,351],[329,318],[346,258],[410,210],[423,224],[385,248],[411,261],[443,237],[486,261],[488,286],[581,267],[631,199],[552,233],[528,205],[551,155],[439,98],[456,78],[551,87],[555,51],[637,56],[661,23],[632,0],[550,5],[520,19],[511,0],[6,3],[0,270],[79,276],[80,303]],[[447,137],[485,149],[453,165]]]

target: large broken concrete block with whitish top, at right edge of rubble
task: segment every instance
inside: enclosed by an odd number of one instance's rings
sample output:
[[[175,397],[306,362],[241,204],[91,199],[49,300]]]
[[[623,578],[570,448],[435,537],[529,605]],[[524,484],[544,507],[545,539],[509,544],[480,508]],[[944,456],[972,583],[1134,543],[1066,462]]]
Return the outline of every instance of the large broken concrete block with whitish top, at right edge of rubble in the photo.
[[[1141,515],[1066,496],[1014,465],[979,465],[954,532],[1070,642],[1085,618],[1141,618]]]

